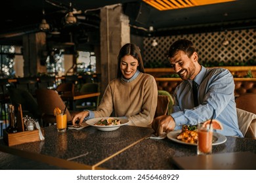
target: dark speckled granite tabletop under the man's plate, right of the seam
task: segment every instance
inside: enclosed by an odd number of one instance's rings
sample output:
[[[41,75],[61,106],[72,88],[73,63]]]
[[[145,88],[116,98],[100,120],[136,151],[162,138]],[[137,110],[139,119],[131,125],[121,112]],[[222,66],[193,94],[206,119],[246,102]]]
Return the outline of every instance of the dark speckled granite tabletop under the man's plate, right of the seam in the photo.
[[[165,138],[144,139],[121,154],[99,165],[103,169],[178,169],[173,157],[196,156],[196,146],[180,144]],[[256,154],[256,140],[240,137],[226,137],[226,142],[213,146],[213,154],[228,152],[253,152]]]

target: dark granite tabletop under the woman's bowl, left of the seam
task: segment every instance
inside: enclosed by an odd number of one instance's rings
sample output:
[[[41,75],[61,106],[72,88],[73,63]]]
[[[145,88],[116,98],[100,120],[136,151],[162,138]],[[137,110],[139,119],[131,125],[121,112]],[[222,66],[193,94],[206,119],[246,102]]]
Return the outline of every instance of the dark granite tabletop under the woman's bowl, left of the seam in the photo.
[[[58,133],[56,125],[44,128],[45,141],[6,146],[0,151],[70,169],[93,169],[98,163],[121,153],[153,133],[150,128],[123,125],[116,131],[85,127]]]

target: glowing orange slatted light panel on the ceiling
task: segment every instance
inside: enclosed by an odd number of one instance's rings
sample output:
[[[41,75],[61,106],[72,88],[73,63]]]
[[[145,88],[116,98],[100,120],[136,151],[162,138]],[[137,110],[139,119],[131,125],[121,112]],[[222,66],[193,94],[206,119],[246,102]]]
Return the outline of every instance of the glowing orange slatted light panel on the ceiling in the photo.
[[[177,8],[188,8],[196,7],[201,5],[210,5],[216,3],[226,3],[230,1],[237,0],[143,0],[148,5],[158,9],[158,10],[171,10]]]

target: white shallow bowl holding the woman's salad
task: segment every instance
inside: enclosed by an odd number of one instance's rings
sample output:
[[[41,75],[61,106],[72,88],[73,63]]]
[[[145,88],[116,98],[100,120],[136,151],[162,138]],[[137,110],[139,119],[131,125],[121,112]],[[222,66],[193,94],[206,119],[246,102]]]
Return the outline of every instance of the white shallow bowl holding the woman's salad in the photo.
[[[121,121],[121,124],[120,125],[95,125],[96,122],[99,122],[100,120],[102,119],[108,119],[110,117],[104,117],[104,118],[93,118],[91,120],[87,120],[86,123],[91,125],[91,126],[94,126],[96,127],[96,129],[100,130],[100,131],[114,131],[116,129],[118,129],[121,125],[127,125],[129,120],[127,119],[124,119],[124,118],[116,118],[118,120]]]

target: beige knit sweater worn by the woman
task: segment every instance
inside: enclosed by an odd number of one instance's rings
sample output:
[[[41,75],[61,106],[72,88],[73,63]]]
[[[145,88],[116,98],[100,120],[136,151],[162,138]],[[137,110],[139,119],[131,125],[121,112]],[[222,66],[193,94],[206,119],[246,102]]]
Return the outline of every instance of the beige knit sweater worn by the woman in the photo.
[[[112,80],[102,97],[95,118],[110,116],[114,110],[116,117],[127,116],[129,125],[151,127],[156,105],[158,86],[153,76],[140,73],[132,82],[121,78]]]

